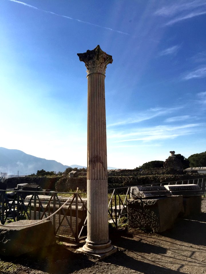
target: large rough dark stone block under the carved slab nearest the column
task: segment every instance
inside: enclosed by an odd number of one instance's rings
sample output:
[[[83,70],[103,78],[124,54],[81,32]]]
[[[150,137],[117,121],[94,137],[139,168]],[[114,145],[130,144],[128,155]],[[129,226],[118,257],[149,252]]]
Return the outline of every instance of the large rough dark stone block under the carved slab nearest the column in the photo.
[[[177,217],[184,213],[183,196],[129,199],[127,212],[128,227],[163,232],[172,228]]]

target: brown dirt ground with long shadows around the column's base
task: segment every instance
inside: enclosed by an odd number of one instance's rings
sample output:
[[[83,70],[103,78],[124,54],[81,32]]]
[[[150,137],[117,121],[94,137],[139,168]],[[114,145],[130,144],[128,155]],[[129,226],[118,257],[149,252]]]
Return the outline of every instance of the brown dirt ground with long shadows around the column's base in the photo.
[[[103,261],[75,249],[56,245],[37,254],[6,261],[1,258],[1,274],[125,274],[125,273],[206,273],[206,199],[199,216],[180,219],[161,235],[136,229],[110,231],[119,251]]]

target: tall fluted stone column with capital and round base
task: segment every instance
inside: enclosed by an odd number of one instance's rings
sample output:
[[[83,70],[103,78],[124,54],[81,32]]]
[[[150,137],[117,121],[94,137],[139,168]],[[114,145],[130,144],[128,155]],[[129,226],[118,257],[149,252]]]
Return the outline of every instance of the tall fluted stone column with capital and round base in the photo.
[[[87,120],[87,239],[83,246],[91,254],[114,250],[108,233],[108,182],[104,79],[112,56],[98,45],[77,54],[85,63],[88,79]],[[115,250],[116,251],[116,250]]]

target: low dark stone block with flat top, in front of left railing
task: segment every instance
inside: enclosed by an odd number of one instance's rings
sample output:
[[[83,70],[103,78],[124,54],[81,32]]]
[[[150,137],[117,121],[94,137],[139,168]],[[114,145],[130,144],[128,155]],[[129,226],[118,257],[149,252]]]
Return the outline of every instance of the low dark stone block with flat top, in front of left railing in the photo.
[[[32,225],[35,220],[12,222],[7,227],[0,226],[0,254],[17,257],[56,242],[51,221]],[[31,224],[28,227],[18,225]],[[11,226],[16,227],[11,227]]]

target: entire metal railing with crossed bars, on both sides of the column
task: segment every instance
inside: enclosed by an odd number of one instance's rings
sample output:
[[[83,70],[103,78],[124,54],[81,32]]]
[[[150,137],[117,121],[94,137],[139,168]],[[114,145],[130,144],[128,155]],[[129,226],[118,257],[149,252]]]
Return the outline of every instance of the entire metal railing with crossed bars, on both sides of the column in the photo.
[[[164,186],[165,184],[198,184],[204,194],[206,192],[206,178],[154,183],[144,186]],[[86,192],[66,193],[68,197],[62,197],[63,192],[25,192],[22,190],[12,192],[13,196],[11,196],[11,191],[0,190],[1,224],[21,219],[44,219],[56,212],[72,195],[66,205],[50,218],[54,233],[58,236],[72,238],[76,242],[86,237],[87,198],[82,198],[82,196],[86,196]],[[130,186],[109,189],[108,193],[109,223],[118,227],[127,218],[127,199],[130,198]]]

